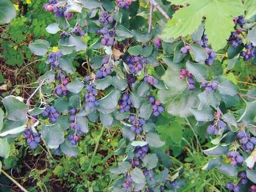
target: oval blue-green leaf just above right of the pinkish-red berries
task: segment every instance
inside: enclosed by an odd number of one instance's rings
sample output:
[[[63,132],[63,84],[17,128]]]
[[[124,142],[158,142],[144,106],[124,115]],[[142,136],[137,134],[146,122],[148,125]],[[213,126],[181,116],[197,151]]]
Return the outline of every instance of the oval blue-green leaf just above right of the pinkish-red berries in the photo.
[[[186,69],[192,73],[196,81],[203,82],[207,79],[207,69],[204,64],[195,64],[193,62],[186,62]]]

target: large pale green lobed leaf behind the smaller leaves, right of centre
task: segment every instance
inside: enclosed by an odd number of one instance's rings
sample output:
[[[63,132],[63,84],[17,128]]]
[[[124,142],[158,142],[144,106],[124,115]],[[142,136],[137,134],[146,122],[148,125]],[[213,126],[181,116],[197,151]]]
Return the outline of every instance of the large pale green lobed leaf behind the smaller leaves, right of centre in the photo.
[[[157,96],[162,104],[165,104],[169,114],[180,117],[191,115],[189,108],[197,107],[199,91],[189,91],[185,80],[179,79],[179,70],[168,68],[162,76],[163,82],[169,90],[159,90]]]

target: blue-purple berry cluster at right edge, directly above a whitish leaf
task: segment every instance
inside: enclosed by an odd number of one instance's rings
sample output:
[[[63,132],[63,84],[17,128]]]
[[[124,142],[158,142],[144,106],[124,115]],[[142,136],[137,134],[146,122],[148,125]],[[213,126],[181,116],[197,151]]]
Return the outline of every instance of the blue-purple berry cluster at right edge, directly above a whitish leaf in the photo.
[[[254,149],[254,146],[256,145],[256,137],[250,137],[248,131],[238,131],[237,138],[242,143],[243,150],[247,153]]]

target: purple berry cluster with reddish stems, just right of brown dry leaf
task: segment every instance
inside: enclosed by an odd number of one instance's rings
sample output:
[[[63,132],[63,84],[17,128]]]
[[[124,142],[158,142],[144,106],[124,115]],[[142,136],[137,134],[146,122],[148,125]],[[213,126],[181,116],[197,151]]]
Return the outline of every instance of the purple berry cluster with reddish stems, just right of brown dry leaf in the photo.
[[[143,65],[147,64],[147,59],[139,56],[128,56],[126,57],[126,62],[129,66],[130,73],[136,74],[137,72],[142,71]]]

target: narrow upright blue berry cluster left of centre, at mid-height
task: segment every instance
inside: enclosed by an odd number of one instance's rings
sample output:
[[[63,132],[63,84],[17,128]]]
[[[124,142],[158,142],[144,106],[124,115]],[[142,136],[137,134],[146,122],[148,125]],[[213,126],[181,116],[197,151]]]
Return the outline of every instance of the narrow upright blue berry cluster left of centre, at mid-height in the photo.
[[[86,85],[86,95],[84,96],[86,100],[86,109],[93,109],[99,105],[99,101],[96,99],[96,96],[98,94],[98,91],[95,88],[95,85],[93,82],[91,82],[89,85]]]

